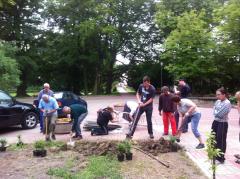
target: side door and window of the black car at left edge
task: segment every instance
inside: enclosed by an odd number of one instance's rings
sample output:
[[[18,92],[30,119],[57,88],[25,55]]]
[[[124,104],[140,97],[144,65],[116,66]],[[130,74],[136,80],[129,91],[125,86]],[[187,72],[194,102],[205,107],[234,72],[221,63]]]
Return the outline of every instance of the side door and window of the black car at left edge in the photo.
[[[22,108],[7,93],[0,91],[0,127],[20,123]]]

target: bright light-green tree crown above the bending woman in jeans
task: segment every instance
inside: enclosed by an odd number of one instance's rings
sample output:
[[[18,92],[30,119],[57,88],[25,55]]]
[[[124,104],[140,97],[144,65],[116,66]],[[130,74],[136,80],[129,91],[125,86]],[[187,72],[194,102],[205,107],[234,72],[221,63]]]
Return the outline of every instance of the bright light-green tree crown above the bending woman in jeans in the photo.
[[[207,81],[216,72],[214,63],[215,43],[208,25],[203,20],[204,11],[183,13],[178,17],[177,28],[165,41],[166,69],[175,78]]]

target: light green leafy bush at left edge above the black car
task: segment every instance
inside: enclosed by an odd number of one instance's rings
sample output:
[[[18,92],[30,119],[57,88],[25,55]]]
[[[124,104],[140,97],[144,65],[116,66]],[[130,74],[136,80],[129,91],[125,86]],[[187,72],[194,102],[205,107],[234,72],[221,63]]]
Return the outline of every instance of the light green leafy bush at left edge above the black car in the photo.
[[[0,87],[3,90],[14,89],[20,83],[20,71],[14,53],[13,46],[0,41]]]

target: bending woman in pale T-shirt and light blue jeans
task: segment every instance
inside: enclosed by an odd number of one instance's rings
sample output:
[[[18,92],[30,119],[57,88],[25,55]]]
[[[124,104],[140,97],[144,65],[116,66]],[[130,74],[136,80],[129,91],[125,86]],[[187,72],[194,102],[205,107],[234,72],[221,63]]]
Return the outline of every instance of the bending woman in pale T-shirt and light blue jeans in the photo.
[[[174,96],[172,101],[177,104],[180,119],[179,121],[181,122],[178,128],[177,142],[180,142],[180,136],[182,134],[184,125],[188,122],[191,122],[192,132],[199,141],[196,149],[204,148],[204,143],[198,131],[201,113],[199,112],[197,105],[189,99],[180,99],[179,96]]]

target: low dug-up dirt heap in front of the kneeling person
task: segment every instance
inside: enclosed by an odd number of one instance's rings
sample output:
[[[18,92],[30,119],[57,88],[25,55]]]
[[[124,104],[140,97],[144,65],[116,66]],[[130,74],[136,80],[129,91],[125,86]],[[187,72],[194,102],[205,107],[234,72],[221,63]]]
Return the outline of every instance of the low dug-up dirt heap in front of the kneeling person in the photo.
[[[75,143],[74,150],[89,155],[107,155],[117,153],[117,144],[119,141],[79,141]]]

